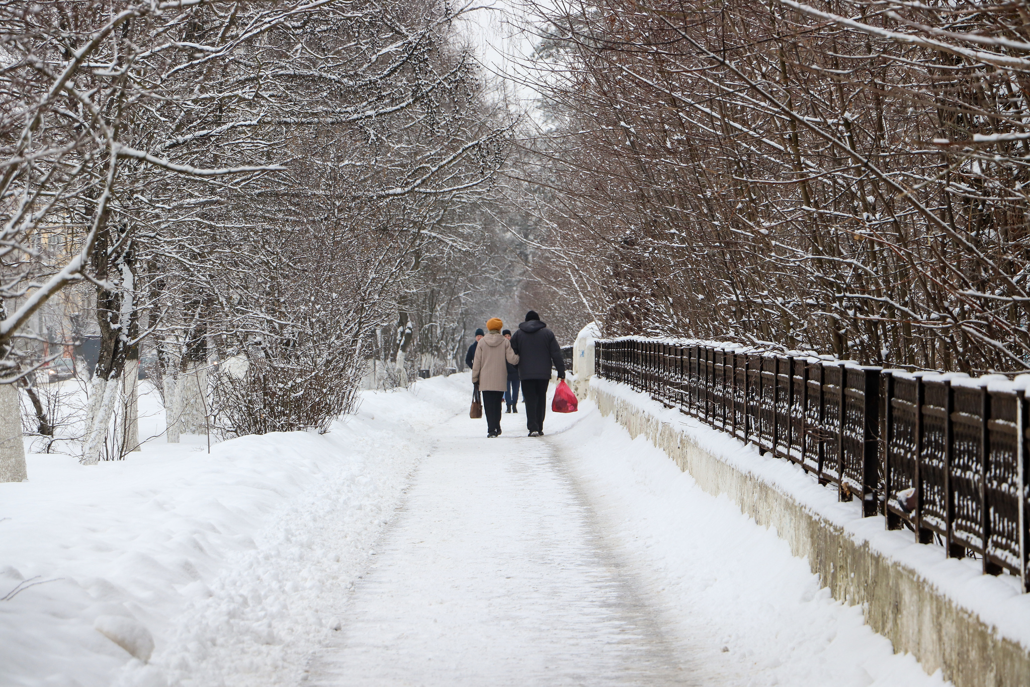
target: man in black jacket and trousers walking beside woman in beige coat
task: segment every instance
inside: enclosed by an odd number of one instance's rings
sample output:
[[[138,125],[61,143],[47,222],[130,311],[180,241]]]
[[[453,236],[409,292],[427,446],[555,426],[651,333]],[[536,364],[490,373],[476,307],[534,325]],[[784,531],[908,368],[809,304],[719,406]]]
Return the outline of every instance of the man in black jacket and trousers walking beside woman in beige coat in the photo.
[[[558,371],[558,379],[565,378],[565,362],[554,333],[540,321],[530,310],[525,321],[512,335],[512,350],[519,356],[518,376],[522,382],[525,402],[525,426],[530,437],[544,434],[544,415],[547,413],[547,385],[551,381],[551,365]]]

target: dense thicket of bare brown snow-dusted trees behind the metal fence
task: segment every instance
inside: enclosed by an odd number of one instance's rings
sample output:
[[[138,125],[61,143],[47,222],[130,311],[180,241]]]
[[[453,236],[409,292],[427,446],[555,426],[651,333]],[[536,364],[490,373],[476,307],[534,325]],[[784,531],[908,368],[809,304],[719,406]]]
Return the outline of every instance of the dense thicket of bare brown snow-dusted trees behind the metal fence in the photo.
[[[609,331],[1030,365],[1017,4],[540,10],[534,180]]]

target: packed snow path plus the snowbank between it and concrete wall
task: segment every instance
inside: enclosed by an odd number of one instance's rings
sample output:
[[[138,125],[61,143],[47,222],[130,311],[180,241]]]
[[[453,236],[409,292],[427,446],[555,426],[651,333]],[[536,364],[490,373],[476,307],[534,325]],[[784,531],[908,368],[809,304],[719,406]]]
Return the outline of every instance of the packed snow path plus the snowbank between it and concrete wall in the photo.
[[[461,412],[428,431],[305,684],[947,684],[590,402],[549,414],[543,439],[523,422],[504,415],[486,439]]]

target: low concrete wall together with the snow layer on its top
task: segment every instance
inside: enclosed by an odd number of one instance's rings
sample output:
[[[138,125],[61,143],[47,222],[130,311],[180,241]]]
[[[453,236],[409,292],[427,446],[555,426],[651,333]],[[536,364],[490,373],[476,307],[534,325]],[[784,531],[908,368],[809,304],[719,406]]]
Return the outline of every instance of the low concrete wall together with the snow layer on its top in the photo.
[[[604,414],[648,437],[706,491],[775,527],[834,597],[862,605],[873,629],[927,672],[941,668],[959,687],[1030,684],[1030,594],[1015,577],[982,575],[976,561],[887,530],[882,516],[861,517],[858,502],[837,502],[794,463],[628,386],[594,377],[588,390]]]

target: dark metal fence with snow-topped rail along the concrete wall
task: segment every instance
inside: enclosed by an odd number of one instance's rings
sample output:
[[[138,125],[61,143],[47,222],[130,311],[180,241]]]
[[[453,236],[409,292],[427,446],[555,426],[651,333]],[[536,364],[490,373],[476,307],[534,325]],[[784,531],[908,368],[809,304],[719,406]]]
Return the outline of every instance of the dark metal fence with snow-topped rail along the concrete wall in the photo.
[[[860,499],[863,516],[1030,591],[1022,391],[647,339],[598,341],[594,354],[598,376],[791,460],[840,501]]]

